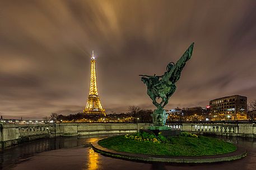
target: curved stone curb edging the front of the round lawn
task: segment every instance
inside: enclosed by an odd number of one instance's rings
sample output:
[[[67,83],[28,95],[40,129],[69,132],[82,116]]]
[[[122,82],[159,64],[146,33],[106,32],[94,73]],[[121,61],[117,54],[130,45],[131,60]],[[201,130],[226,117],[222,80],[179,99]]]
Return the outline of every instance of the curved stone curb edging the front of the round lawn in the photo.
[[[105,138],[102,138],[105,139]],[[99,139],[101,140],[101,139]],[[218,154],[215,156],[156,156],[150,154],[138,154],[138,153],[128,153],[128,152],[117,152],[115,150],[107,149],[101,147],[96,140],[92,143],[92,148],[95,152],[103,154],[104,156],[125,159],[128,161],[137,162],[162,162],[162,163],[214,163],[214,162],[225,162],[234,161],[236,159],[241,159],[247,155],[243,148],[237,147],[235,152]]]

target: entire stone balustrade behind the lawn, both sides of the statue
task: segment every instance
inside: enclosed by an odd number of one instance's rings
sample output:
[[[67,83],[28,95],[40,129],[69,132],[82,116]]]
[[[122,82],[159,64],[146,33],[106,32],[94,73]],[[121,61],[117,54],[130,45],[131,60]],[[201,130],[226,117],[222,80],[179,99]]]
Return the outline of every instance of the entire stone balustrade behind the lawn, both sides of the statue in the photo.
[[[139,129],[146,129],[150,125],[149,123],[0,124],[0,148],[42,138],[136,133]],[[166,126],[199,135],[256,138],[254,122],[171,122]]]

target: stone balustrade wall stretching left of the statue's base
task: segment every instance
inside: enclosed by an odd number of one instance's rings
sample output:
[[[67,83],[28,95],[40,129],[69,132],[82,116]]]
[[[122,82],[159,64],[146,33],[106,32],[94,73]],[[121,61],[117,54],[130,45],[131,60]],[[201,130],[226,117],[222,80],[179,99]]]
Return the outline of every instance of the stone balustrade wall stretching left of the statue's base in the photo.
[[[40,138],[136,133],[139,129],[148,126],[149,124],[145,123],[0,124],[0,148]]]

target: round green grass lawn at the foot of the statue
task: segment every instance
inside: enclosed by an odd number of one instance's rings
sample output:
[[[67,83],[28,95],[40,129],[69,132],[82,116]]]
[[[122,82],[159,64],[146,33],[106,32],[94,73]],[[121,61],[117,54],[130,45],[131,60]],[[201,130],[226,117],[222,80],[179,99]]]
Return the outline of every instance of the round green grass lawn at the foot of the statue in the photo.
[[[102,147],[131,153],[155,154],[164,156],[208,156],[230,153],[236,150],[232,143],[220,139],[202,137],[173,137],[170,143],[142,142],[118,135],[99,141]]]

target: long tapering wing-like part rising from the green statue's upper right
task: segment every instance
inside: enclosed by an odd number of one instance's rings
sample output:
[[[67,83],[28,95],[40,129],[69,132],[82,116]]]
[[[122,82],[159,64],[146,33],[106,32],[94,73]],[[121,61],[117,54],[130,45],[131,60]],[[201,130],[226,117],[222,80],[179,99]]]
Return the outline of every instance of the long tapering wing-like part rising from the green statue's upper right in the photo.
[[[190,59],[192,56],[194,47],[194,42],[188,47],[188,50],[184,52],[184,54],[180,57],[180,59],[176,62],[176,64],[171,68],[170,71],[167,71],[167,74],[165,74],[162,77],[162,81],[168,81],[175,83],[179,80],[181,71],[183,70],[183,67],[185,66],[186,62]]]

